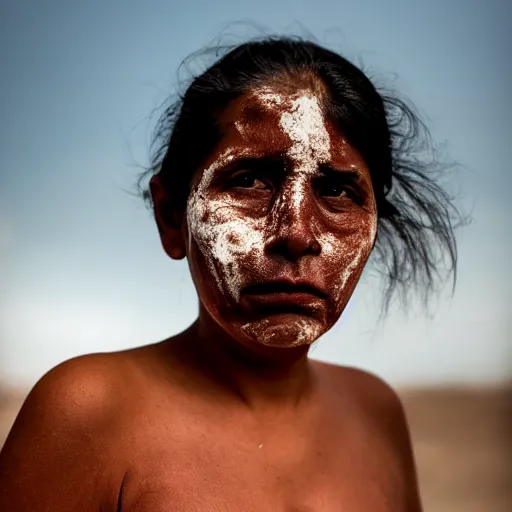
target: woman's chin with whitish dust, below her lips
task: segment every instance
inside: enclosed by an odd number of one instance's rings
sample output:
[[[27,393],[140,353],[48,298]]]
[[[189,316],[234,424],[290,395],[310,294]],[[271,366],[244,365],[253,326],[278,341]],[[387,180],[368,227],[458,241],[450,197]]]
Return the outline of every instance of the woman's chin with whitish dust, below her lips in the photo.
[[[242,326],[254,343],[267,347],[295,348],[309,346],[327,331],[319,320],[301,315],[272,315]]]

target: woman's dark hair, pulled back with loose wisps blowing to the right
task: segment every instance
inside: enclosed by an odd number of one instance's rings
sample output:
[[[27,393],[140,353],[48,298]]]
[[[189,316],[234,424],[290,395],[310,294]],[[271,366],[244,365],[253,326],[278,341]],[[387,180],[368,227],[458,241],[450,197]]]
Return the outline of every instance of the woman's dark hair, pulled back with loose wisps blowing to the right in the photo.
[[[378,209],[372,257],[385,276],[383,311],[394,292],[405,304],[415,289],[426,305],[438,279],[451,274],[455,286],[454,227],[463,218],[438,180],[450,166],[437,160],[430,134],[411,107],[379,93],[345,58],[301,38],[267,36],[206,52],[223,56],[192,78],[157,123],[151,164],[138,181],[147,204],[151,197],[143,183],[159,173],[173,208],[185,206],[192,174],[217,144],[217,119],[232,100],[262,84],[310,86],[320,91],[325,115],[360,151],[371,173]]]

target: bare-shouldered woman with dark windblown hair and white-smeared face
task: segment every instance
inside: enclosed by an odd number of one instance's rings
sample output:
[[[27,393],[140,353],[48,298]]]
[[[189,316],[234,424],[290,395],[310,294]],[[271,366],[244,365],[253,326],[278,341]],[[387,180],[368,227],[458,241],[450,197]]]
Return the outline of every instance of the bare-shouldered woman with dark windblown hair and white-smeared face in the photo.
[[[425,135],[311,42],[252,41],[197,76],[160,120],[144,196],[199,317],[45,375],[0,456],[0,509],[419,511],[395,392],[308,351],[372,251],[385,307],[428,296],[439,248],[455,270],[457,211]]]

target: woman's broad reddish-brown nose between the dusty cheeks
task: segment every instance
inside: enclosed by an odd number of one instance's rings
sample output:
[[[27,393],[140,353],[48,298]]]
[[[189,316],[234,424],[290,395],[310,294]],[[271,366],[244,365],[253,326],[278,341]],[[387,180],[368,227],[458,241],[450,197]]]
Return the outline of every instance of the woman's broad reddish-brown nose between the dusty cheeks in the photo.
[[[303,201],[299,208],[281,205],[280,212],[273,212],[274,222],[271,222],[266,243],[267,254],[292,262],[320,254],[321,246],[312,229],[311,209],[305,203]]]

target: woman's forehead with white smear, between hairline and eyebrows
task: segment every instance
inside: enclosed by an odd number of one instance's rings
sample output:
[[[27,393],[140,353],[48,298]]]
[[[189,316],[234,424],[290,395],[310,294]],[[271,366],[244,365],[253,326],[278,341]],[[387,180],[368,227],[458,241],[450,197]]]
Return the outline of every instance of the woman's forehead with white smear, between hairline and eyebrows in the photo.
[[[283,129],[282,116],[297,112],[301,103],[306,103],[309,109],[305,115],[298,112],[294,122],[308,125],[304,129],[326,134],[331,162],[342,167],[365,168],[359,152],[341,130],[324,116],[321,98],[308,89],[290,93],[263,87],[232,101],[218,120],[223,133],[222,149],[231,146],[252,149],[256,154],[285,153],[293,141]]]

